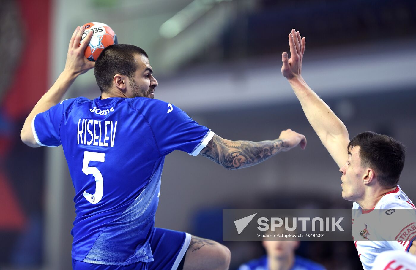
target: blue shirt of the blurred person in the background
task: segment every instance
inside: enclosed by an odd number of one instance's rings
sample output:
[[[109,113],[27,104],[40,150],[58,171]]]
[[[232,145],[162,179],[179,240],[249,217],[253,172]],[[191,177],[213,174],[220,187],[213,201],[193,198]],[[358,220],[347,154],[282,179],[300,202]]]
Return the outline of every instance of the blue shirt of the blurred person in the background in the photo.
[[[268,270],[267,255],[261,258],[250,260],[238,268],[238,270]],[[290,270],[325,270],[324,266],[314,263],[300,256],[295,256],[295,263]]]

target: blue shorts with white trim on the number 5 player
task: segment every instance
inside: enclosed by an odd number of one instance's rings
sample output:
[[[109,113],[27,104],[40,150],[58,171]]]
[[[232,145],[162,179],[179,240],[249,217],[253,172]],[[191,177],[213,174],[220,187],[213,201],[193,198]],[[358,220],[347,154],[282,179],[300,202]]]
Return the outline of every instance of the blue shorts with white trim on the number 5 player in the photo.
[[[153,228],[150,246],[153,262],[129,265],[102,265],[72,259],[74,270],[176,270],[191,242],[191,235],[180,231]]]

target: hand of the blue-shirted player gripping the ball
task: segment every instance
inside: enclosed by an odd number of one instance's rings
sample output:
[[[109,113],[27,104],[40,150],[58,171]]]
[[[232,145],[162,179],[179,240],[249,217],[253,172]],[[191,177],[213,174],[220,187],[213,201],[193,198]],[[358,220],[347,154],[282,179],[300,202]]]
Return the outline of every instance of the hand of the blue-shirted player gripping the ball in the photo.
[[[79,45],[84,30],[85,27],[77,27],[72,34],[68,46],[67,62],[64,71],[75,76],[84,74],[89,69],[92,69],[95,64],[95,62],[89,61],[84,56],[84,50],[92,38],[93,31],[89,31],[87,37],[85,37]]]

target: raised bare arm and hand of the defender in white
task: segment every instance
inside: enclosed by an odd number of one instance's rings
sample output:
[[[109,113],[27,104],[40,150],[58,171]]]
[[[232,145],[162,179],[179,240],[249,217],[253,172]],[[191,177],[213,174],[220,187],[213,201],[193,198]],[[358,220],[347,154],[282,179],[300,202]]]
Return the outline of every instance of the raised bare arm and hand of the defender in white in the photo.
[[[329,154],[342,167],[348,159],[348,130],[328,105],[317,96],[301,76],[305,37],[299,32],[289,34],[290,59],[286,52],[282,54],[282,74],[287,78],[302,105],[306,118],[321,139]]]

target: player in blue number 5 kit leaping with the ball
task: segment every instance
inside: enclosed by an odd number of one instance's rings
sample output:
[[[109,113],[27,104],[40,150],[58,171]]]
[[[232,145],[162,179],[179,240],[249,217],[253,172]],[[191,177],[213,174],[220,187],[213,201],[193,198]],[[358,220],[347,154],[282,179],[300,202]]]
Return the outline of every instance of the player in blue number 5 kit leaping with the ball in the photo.
[[[154,99],[158,83],[144,50],[111,45],[94,63],[84,57],[92,31],[79,46],[83,32],[75,30],[64,71],[21,131],[31,147],[62,145],[76,192],[72,267],[228,269],[225,246],[154,227],[164,157],[181,150],[239,169],[304,148],[305,137],[285,130],[276,140],[225,140],[180,108]],[[94,66],[101,96],[61,101],[77,76]]]

